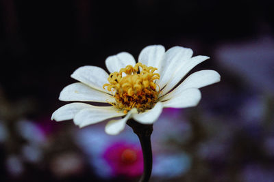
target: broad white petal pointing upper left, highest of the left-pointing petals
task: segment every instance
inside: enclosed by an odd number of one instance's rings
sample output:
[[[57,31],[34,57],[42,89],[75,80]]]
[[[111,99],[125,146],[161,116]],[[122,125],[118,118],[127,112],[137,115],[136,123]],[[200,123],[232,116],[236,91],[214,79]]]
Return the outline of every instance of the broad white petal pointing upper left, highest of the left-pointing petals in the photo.
[[[101,67],[86,65],[79,67],[71,77],[79,82],[84,82],[86,85],[98,89],[99,91],[108,92],[103,89],[103,85],[108,83],[108,73]]]

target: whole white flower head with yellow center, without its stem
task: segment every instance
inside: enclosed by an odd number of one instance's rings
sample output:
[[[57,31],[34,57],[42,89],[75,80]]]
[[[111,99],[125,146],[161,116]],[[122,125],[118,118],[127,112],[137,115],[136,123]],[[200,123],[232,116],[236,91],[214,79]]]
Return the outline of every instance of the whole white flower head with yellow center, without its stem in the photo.
[[[187,108],[197,106],[201,100],[199,88],[220,81],[213,70],[201,70],[190,74],[177,84],[206,56],[192,57],[192,50],[175,46],[165,52],[164,46],[145,47],[136,63],[127,52],[110,56],[105,60],[110,75],[96,66],[79,67],[72,78],[79,82],[65,87],[59,99],[78,101],[66,104],[53,112],[51,119],[64,121],[73,119],[75,125],[84,127],[106,119],[108,134],[119,134],[127,119],[151,124],[162,112],[162,108]],[[177,86],[177,87],[176,87]],[[105,102],[112,106],[92,106],[82,102]]]

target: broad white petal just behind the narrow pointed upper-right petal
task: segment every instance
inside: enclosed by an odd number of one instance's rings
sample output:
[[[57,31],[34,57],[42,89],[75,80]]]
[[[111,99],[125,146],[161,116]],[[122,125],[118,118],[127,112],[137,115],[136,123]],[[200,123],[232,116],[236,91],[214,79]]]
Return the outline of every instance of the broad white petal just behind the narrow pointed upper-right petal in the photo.
[[[166,85],[173,77],[177,67],[184,65],[184,63],[192,57],[192,54],[193,51],[190,48],[180,46],[175,46],[166,51],[162,64],[160,65],[160,80],[158,81],[160,88]]]

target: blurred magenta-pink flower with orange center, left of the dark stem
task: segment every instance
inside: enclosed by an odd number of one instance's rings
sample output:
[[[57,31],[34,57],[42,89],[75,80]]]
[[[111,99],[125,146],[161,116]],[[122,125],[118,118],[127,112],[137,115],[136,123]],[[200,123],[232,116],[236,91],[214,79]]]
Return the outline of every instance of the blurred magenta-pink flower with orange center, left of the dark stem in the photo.
[[[116,142],[103,153],[103,158],[112,168],[112,175],[137,177],[142,175],[142,149],[126,142]]]

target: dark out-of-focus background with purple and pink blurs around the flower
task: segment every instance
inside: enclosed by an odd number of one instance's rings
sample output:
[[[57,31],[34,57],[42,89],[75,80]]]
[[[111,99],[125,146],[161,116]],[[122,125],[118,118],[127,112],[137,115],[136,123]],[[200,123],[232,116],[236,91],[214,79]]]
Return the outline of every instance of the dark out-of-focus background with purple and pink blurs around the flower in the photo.
[[[0,181],[138,181],[127,127],[50,121],[82,65],[162,44],[211,59],[221,82],[154,124],[151,181],[274,181],[274,1],[0,1]],[[121,156],[127,154],[126,160]]]

